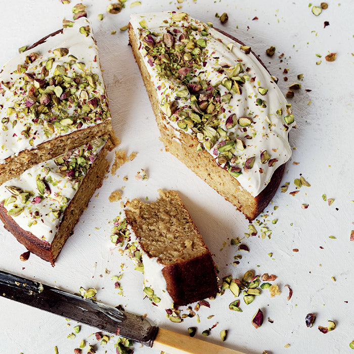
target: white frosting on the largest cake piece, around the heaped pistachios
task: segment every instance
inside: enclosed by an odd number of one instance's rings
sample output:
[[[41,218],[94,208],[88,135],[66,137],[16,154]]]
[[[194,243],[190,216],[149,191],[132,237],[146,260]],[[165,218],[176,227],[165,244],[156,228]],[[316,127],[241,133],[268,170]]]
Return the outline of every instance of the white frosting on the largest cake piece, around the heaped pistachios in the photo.
[[[198,76],[198,79],[208,81],[209,85],[218,86],[217,88],[220,91],[220,95],[229,93],[226,87],[219,84],[223,78],[229,78],[227,70],[223,70],[223,68],[225,68],[225,66],[235,67],[238,63],[241,63],[244,71],[242,74],[240,73],[240,76],[247,75],[248,77],[245,83],[241,85],[242,93],[233,94],[229,104],[223,104],[225,112],[221,112],[217,118],[220,119],[218,126],[227,132],[230,140],[240,138],[246,145],[244,150],[241,151],[235,148],[235,151],[232,152],[234,156],[239,157],[239,162],[236,162],[238,164],[234,164],[234,166],[241,167],[242,169],[242,174],[236,178],[245,190],[251,193],[251,195],[257,196],[265,186],[267,186],[277,167],[288,161],[291,156],[291,148],[288,143],[288,131],[295,123],[286,124],[287,127],[284,126],[284,117],[291,114],[291,109],[289,106],[287,107],[287,102],[279,90],[279,87],[274,82],[274,79],[252,53],[246,54],[240,49],[239,43],[234,42],[229,37],[191,18],[187,14],[185,14],[182,20],[174,20],[175,15],[176,13],[171,12],[133,14],[130,17],[130,23],[138,40],[150,33],[155,43],[162,40],[162,35],[166,33],[167,30],[170,31],[170,33],[175,33],[173,31],[179,30],[178,35],[174,35],[174,40],[178,41],[178,36],[184,30],[183,27],[190,26],[191,24],[197,27],[196,30],[191,31],[190,35],[193,35],[196,40],[200,38],[205,39],[206,48],[204,51],[207,51],[208,55],[201,68],[193,68],[194,74],[192,75],[195,77]],[[142,21],[145,29],[142,28]],[[208,35],[201,35],[200,31],[202,28],[208,31]],[[178,41],[178,43],[182,44],[181,41]],[[232,44],[231,50],[230,44]],[[143,55],[146,68],[156,88],[160,107],[163,107],[166,102],[171,102],[173,98],[176,98],[176,92],[183,89],[184,85],[182,81],[180,82],[176,79],[162,78],[156,65],[151,65],[151,61],[150,63],[148,62],[149,55],[146,55],[144,48],[145,43],[142,43],[140,52]],[[188,66],[188,64],[186,64],[186,66]],[[216,69],[218,71],[216,71]],[[192,80],[191,82],[197,83],[198,81]],[[264,96],[260,95],[258,92],[259,87],[267,89],[268,92]],[[188,94],[187,97],[177,98],[175,102],[178,102],[179,108],[183,107],[187,112],[191,111],[190,96],[191,95]],[[265,100],[267,107],[256,105],[256,99]],[[276,112],[280,108],[282,112],[277,114]],[[181,130],[176,121],[179,119],[177,112],[175,115],[172,114],[169,118],[165,116],[166,118],[163,119],[165,124],[171,125],[176,131]],[[251,118],[251,126],[245,128],[236,124],[232,128],[227,128],[226,120],[231,114],[236,114],[237,118]],[[184,129],[184,131],[188,134],[196,135],[195,132],[193,133],[191,130],[191,127]],[[217,145],[225,141],[225,138],[218,135],[215,145],[211,148],[206,147],[205,137],[198,137],[197,135],[197,139],[215,159],[221,156],[217,151]],[[272,166],[268,165],[268,161],[262,163],[260,160],[260,153],[265,150],[267,150],[267,153],[270,155],[270,159],[277,160],[273,160],[275,163]],[[255,157],[253,167],[245,170],[243,168],[245,161],[252,157]],[[225,166],[225,162],[219,164],[222,167]]]

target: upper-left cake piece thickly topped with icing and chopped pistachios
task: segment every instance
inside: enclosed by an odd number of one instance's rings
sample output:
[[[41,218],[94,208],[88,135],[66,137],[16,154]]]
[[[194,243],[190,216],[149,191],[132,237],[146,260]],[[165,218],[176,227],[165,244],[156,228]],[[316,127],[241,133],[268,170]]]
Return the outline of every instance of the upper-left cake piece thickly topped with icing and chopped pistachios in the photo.
[[[115,136],[86,18],[42,38],[0,72],[0,184],[34,164]]]

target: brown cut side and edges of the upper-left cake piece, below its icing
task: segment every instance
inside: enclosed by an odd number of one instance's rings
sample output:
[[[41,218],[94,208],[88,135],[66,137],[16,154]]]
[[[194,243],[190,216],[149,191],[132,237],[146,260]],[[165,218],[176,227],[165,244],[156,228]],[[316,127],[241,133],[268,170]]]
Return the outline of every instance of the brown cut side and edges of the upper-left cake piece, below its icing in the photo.
[[[47,36],[39,39],[35,43],[33,43],[32,46],[29,46],[26,49],[26,52],[37,47],[38,45],[44,43],[49,37],[53,37],[59,33],[63,32],[63,28],[58,29],[57,31],[48,34]],[[94,38],[94,41],[96,43],[96,40]],[[102,71],[101,67],[101,62],[100,63],[100,68]],[[3,70],[0,71],[0,73]],[[108,100],[108,95],[107,95],[107,89],[106,89],[106,84],[103,81],[104,87],[105,87],[105,92],[106,92],[106,100]],[[109,106],[109,105],[108,105]],[[94,129],[97,127],[96,129]],[[98,128],[99,127],[99,128]],[[102,129],[101,129],[102,128]],[[91,130],[91,131],[90,131]],[[101,131],[99,131],[101,130]],[[82,132],[85,131],[84,137],[79,137]],[[85,143],[88,143],[89,141],[98,138],[106,136],[108,137],[109,141],[107,142],[109,150],[112,150],[116,145],[119,144],[119,140],[114,134],[114,130],[111,125],[111,120],[108,120],[106,122],[99,123],[94,126],[87,127],[85,129],[80,129],[80,130],[75,130],[70,134],[64,135],[64,136],[59,136],[53,140],[44,142],[39,144],[35,149],[33,150],[23,150],[21,151],[18,155],[16,156],[9,156],[7,159],[5,159],[5,163],[0,164],[0,185],[6,182],[7,180],[13,178],[14,176],[21,174],[24,172],[26,169],[30,168],[31,166],[39,163],[39,162],[44,162],[47,161],[53,157],[56,157],[60,154],[62,154],[64,151],[63,149],[58,148],[60,145],[64,145],[65,149],[75,149]],[[54,147],[54,144],[57,146]],[[65,150],[64,149],[64,150]],[[40,150],[50,150],[48,153],[43,153],[43,151]],[[9,164],[15,163],[17,165],[16,168],[10,169]]]

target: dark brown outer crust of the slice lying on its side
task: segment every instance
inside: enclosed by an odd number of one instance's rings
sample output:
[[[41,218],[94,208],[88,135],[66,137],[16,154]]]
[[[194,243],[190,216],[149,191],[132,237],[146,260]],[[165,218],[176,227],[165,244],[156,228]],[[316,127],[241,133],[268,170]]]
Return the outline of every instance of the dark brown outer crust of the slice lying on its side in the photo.
[[[216,296],[216,293],[218,292],[217,274],[210,251],[200,235],[191,214],[178,193],[174,193],[187,211],[189,222],[192,223],[200,241],[206,248],[205,253],[198,257],[189,260],[178,260],[175,264],[167,264],[162,269],[162,275],[166,281],[166,290],[173,302],[176,305],[187,305],[195,301],[203,300],[207,297]],[[129,203],[127,203],[127,206],[129,206]],[[136,237],[139,238],[136,224],[134,223],[134,220],[128,216],[128,213],[126,213],[126,219]],[[148,250],[144,248],[141,243],[140,247],[150,257]]]

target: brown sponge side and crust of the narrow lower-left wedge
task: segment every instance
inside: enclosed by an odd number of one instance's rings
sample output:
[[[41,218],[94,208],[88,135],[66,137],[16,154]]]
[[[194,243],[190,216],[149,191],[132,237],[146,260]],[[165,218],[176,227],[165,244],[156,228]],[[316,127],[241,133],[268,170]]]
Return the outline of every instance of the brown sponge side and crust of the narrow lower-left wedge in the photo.
[[[11,232],[16,237],[17,241],[22,243],[31,253],[36,254],[38,257],[54,265],[66,240],[72,235],[72,230],[78,222],[83,210],[86,208],[96,189],[100,188],[102,185],[103,177],[109,168],[109,162],[105,158],[107,152],[108,147],[106,144],[82,180],[80,188],[74,198],[65,209],[57,234],[59,234],[61,229],[70,228],[71,231],[64,235],[59,242],[56,240],[57,235],[52,241],[52,244],[50,244],[47,241],[38,239],[31,232],[23,230],[15,220],[7,214],[7,210],[3,205],[4,202],[2,201],[0,202],[0,219],[4,223],[4,228]],[[80,205],[77,205],[78,201]],[[68,225],[68,216],[70,216],[70,225]],[[56,243],[58,243],[58,245],[54,249]]]

